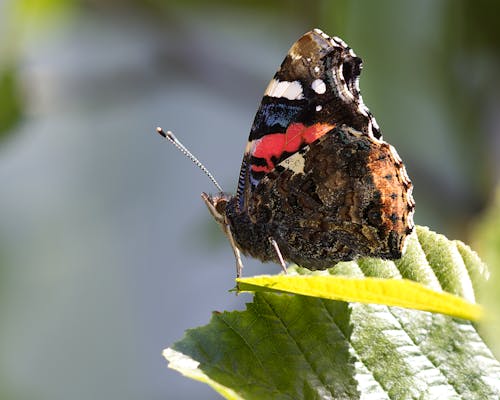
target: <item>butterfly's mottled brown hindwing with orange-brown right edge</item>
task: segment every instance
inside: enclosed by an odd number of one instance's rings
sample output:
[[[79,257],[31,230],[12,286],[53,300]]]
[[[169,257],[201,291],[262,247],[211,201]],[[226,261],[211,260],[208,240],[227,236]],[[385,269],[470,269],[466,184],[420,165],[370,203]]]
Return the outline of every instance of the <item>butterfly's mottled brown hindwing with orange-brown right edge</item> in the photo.
[[[342,126],[264,177],[249,213],[285,259],[309,269],[397,259],[413,228],[411,188],[392,146]]]

